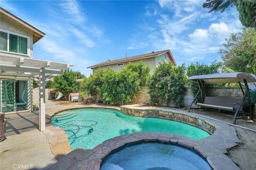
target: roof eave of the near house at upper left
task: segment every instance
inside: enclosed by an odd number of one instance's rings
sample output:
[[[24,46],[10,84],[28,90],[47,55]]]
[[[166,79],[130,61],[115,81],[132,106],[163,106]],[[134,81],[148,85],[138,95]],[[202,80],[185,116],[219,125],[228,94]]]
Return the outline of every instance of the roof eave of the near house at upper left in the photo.
[[[36,29],[35,27],[33,27],[32,25],[26,23],[25,21],[21,20],[20,18],[14,16],[13,14],[11,14],[10,12],[4,10],[3,8],[0,7],[0,12],[1,15],[5,14],[6,16],[12,18],[13,20],[17,21],[18,23],[21,23],[22,25],[28,27],[29,29],[31,29],[33,31],[33,44],[36,43],[38,40],[40,40],[42,37],[44,37],[45,33],[43,33],[42,31]]]

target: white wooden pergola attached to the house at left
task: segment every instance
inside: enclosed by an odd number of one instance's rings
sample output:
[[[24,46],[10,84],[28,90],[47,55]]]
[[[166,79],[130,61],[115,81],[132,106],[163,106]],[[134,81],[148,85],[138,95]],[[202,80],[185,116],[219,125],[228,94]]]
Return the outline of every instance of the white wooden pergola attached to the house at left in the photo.
[[[45,84],[50,78],[62,74],[63,70],[74,66],[74,64],[58,63],[38,59],[11,57],[0,54],[0,78],[33,78],[39,85],[39,130],[45,131]],[[52,76],[46,79],[46,75]],[[31,88],[32,90],[32,88]],[[2,106],[2,100],[0,100]],[[30,111],[32,111],[30,102]]]

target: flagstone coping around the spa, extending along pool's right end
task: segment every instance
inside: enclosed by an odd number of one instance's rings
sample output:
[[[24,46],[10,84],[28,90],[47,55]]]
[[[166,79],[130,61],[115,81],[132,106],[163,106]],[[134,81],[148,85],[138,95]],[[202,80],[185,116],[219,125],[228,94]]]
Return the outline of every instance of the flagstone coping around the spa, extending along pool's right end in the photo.
[[[92,108],[92,107],[91,107]],[[98,107],[94,107],[98,108]],[[106,108],[106,107],[105,107]],[[111,109],[111,108],[110,108]],[[161,108],[158,108],[161,109]],[[181,111],[180,114],[191,114]],[[146,132],[122,135],[108,139],[94,149],[78,148],[59,158],[49,170],[55,169],[86,169],[99,170],[102,161],[111,153],[120,150],[126,145],[143,142],[164,142],[182,145],[198,151],[204,156],[214,170],[239,170],[238,166],[226,156],[228,150],[241,143],[233,127],[211,119],[197,116],[216,127],[214,134],[201,140],[192,139],[171,133]]]

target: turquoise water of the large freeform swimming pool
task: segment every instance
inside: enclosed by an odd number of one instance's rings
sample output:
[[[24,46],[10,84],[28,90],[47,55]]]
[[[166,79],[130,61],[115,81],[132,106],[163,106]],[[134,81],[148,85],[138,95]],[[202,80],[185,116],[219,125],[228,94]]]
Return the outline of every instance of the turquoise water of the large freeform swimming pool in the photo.
[[[75,109],[54,115],[52,125],[66,131],[72,149],[93,149],[107,139],[138,132],[166,132],[194,139],[210,136],[196,127],[176,121],[134,117],[111,109]]]

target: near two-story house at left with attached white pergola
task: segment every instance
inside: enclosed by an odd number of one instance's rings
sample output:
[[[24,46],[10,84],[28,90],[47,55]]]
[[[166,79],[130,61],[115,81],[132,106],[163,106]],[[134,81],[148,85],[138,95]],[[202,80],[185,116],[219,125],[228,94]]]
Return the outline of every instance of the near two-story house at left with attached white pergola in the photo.
[[[40,121],[45,128],[45,84],[72,64],[33,58],[33,45],[44,33],[0,8],[0,112],[33,111],[33,79],[40,85]]]

